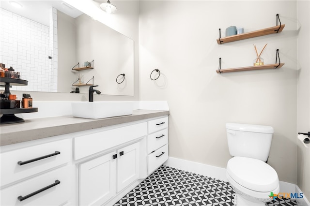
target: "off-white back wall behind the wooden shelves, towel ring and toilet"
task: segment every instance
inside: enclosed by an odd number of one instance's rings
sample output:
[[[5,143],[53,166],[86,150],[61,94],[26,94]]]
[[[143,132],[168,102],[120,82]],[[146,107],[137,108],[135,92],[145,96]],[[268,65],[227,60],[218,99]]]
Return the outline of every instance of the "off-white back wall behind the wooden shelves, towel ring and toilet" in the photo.
[[[286,24],[279,34],[218,45],[218,28],[245,32]],[[140,1],[140,99],[167,100],[170,156],[218,167],[231,158],[226,122],[274,127],[268,163],[296,183],[296,1]],[[262,58],[280,69],[217,74]],[[152,81],[158,68],[161,76]]]

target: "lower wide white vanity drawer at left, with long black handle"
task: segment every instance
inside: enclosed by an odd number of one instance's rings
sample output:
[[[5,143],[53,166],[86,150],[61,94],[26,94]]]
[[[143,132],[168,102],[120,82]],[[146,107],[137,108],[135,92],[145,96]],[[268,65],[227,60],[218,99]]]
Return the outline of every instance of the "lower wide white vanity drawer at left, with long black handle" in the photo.
[[[74,189],[74,176],[70,175],[70,166],[45,173],[38,177],[15,184],[2,189],[2,206],[60,206],[70,200]],[[27,195],[40,191],[40,189],[50,188],[41,191],[27,198]],[[18,198],[19,197],[19,198]],[[24,199],[26,198],[26,199]],[[20,201],[22,200],[22,201]]]

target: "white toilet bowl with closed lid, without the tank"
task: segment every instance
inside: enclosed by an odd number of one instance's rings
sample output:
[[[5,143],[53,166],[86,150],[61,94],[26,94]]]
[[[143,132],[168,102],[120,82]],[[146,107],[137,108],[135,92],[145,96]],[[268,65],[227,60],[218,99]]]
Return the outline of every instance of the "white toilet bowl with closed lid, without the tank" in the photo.
[[[236,192],[235,206],[264,206],[279,192],[277,172],[261,160],[233,157],[227,163],[227,179]]]

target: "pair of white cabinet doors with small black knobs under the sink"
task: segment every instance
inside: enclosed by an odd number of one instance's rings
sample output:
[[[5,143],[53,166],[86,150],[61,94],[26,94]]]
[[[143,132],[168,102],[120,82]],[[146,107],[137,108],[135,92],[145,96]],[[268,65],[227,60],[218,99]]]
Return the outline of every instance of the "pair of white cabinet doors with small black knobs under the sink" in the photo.
[[[140,143],[79,164],[79,205],[102,205],[139,177]]]

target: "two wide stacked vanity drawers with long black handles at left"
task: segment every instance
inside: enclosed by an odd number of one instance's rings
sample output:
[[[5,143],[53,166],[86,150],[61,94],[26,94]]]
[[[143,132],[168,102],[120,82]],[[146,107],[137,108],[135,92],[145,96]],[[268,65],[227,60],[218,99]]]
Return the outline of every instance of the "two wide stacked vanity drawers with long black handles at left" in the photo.
[[[60,206],[72,198],[72,139],[1,151],[0,158],[0,205]]]

